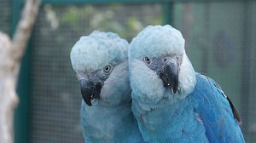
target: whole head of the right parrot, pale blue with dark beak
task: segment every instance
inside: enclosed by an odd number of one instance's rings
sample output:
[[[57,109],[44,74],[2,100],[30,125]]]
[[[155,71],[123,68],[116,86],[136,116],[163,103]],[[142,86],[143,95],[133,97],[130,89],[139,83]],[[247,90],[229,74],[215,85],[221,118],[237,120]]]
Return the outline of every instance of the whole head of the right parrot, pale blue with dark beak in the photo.
[[[131,41],[131,88],[149,102],[183,99],[195,87],[195,72],[180,31],[172,26],[147,26]]]

